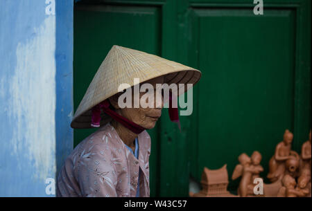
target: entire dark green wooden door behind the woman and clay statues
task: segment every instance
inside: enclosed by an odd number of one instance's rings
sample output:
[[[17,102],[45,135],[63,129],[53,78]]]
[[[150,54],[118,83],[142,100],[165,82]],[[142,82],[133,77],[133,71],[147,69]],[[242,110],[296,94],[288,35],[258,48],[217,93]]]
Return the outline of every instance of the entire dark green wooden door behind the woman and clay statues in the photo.
[[[155,129],[151,196],[187,196],[189,178],[227,163],[229,178],[245,152],[268,160],[285,129],[300,152],[311,128],[311,1],[80,1],[74,13],[74,105],[113,44],[202,71],[193,114],[182,131],[167,112]],[[75,130],[77,145],[94,129]],[[235,192],[238,181],[229,183]]]

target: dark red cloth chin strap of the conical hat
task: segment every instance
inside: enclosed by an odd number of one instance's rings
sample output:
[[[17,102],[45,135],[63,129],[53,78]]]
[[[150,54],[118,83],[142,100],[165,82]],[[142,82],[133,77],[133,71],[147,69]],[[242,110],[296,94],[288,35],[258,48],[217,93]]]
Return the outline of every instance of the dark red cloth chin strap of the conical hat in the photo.
[[[179,113],[177,108],[173,108],[172,99],[173,99],[172,93],[169,95],[169,117],[172,122],[177,122],[177,125],[179,126],[180,130],[180,120],[179,120]],[[146,128],[141,127],[140,125],[135,124],[135,122],[132,122],[128,120],[127,118],[124,118],[123,116],[119,115],[112,109],[110,109],[110,102],[108,100],[104,100],[97,104],[95,107],[92,108],[92,120],[91,120],[91,126],[92,127],[100,127],[101,122],[101,109],[111,118],[116,120],[117,122],[121,123],[124,127],[130,129],[135,134],[141,134],[142,131],[144,131]]]

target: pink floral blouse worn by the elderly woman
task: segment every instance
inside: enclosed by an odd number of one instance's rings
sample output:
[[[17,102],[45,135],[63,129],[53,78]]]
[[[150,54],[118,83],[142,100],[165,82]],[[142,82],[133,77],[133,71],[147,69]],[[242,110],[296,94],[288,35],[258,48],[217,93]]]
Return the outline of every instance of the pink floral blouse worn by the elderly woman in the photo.
[[[150,136],[138,136],[139,159],[125,147],[108,123],[85,138],[65,160],[57,182],[57,196],[150,196]],[[139,175],[140,174],[140,175]]]

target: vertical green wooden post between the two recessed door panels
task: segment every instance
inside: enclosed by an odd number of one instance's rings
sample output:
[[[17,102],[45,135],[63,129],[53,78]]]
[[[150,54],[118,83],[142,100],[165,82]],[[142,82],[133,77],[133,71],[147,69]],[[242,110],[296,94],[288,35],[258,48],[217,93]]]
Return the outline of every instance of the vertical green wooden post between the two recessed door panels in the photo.
[[[162,56],[182,64],[188,64],[188,1],[166,1],[162,7]],[[187,196],[189,192],[188,151],[191,145],[187,141],[189,117],[180,116],[180,131],[168,118],[164,109],[160,132],[160,190],[159,196]]]

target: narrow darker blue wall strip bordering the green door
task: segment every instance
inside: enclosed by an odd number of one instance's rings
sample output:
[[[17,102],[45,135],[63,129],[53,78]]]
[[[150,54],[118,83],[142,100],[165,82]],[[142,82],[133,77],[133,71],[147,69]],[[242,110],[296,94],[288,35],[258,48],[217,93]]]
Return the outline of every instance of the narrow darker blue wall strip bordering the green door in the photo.
[[[56,164],[57,171],[73,149],[73,1],[58,0],[56,15]]]

